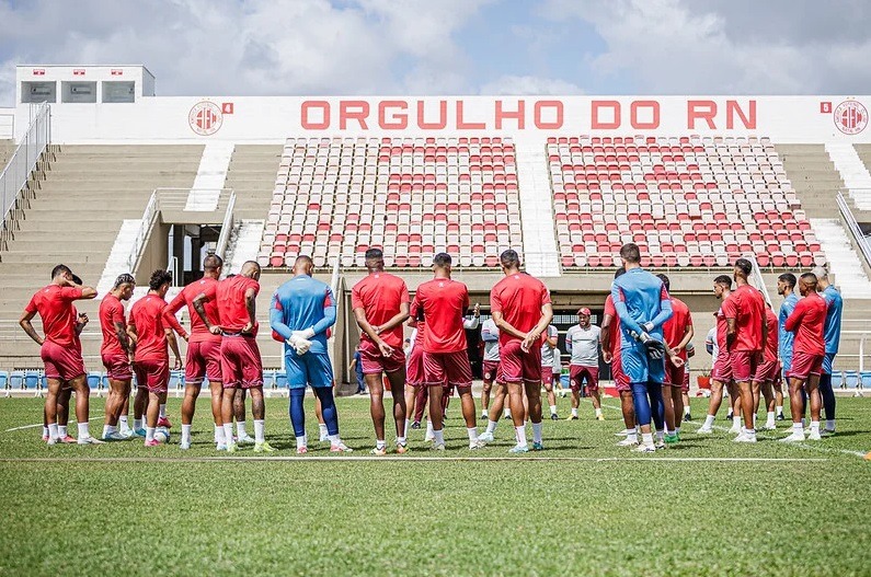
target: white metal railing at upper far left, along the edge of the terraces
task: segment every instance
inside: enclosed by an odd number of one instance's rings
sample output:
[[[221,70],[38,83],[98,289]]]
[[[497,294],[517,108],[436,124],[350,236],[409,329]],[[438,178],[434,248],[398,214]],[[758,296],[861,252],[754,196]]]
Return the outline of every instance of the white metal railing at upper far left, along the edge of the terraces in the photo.
[[[9,212],[27,184],[36,162],[51,142],[51,109],[42,103],[36,107],[27,131],[0,173],[0,232],[5,232]]]

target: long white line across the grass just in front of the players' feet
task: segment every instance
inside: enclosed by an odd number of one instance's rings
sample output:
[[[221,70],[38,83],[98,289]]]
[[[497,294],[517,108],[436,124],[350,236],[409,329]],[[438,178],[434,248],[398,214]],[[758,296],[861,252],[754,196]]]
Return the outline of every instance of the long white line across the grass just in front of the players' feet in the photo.
[[[810,462],[826,462],[828,459],[822,458],[766,458],[766,457],[398,457],[398,455],[359,455],[359,457],[84,457],[81,459],[76,458],[61,458],[61,457],[46,457],[46,458],[3,458],[0,463],[51,463],[51,462],[83,462],[83,463],[226,463],[226,462],[263,462],[263,461],[278,461],[278,462],[297,462],[303,463],[307,461],[319,462],[508,462],[508,461],[525,461],[525,462],[540,462],[540,461],[560,461],[560,462],[585,462],[585,463],[608,463],[608,462],[722,462],[722,463],[810,463]]]

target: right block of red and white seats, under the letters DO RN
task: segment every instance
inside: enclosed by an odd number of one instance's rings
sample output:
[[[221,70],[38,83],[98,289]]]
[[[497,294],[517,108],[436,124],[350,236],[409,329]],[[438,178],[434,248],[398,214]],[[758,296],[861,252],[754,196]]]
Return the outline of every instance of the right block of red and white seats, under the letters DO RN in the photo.
[[[614,267],[634,241],[653,267],[823,264],[811,223],[768,139],[551,137],[563,267]]]

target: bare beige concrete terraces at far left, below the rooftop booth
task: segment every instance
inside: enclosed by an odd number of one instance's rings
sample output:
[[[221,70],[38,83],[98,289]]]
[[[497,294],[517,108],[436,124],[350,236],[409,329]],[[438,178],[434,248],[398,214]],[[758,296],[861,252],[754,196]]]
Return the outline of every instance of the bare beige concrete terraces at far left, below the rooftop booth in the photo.
[[[187,187],[200,146],[65,146],[24,210],[9,249],[0,251],[0,366],[38,368],[38,347],[18,319],[33,292],[48,284],[51,267],[70,266],[96,285],[125,219],[140,219],[158,187]],[[85,361],[100,369],[99,303],[80,304],[91,324],[82,334]]]

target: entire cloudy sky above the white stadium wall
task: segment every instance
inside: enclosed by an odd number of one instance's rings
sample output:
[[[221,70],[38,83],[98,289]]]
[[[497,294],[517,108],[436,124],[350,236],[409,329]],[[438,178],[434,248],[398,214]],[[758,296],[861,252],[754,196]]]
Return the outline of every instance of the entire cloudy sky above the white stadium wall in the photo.
[[[158,95],[868,94],[867,0],[0,0],[19,64]]]

